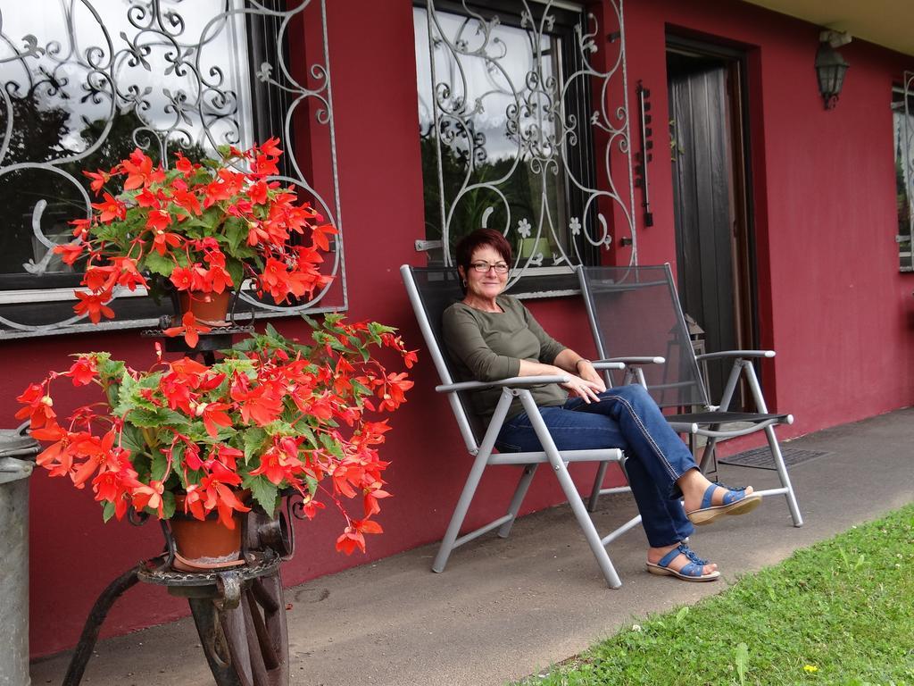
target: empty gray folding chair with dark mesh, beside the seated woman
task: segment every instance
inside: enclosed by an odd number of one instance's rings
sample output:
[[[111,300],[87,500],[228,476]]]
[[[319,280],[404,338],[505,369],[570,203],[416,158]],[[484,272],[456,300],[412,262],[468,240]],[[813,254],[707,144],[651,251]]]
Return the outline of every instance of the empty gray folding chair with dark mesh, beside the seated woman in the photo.
[[[579,267],[581,293],[587,305],[590,327],[601,359],[608,353],[626,362],[625,378],[611,382],[642,383],[662,408],[687,408],[691,412],[667,414],[667,421],[681,434],[707,436],[702,456],[704,468],[713,459],[721,438],[765,432],[781,488],[760,491],[762,496],[787,498],[794,526],[802,516],[784,466],[781,446],[774,435],[775,424],[793,423],[791,414],[771,414],[762,396],[753,358],[773,358],[773,350],[727,350],[696,356],[685,326],[669,264],[635,267]],[[652,352],[662,355],[662,365],[647,365],[650,358],[625,358],[624,353]],[[717,405],[711,404],[698,363],[712,359],[733,359],[727,384]],[[740,375],[744,375],[758,412],[729,412]],[[697,412],[695,411],[697,409]],[[730,428],[727,428],[730,427]],[[602,475],[591,496],[591,506],[600,494]]]

